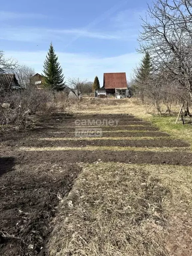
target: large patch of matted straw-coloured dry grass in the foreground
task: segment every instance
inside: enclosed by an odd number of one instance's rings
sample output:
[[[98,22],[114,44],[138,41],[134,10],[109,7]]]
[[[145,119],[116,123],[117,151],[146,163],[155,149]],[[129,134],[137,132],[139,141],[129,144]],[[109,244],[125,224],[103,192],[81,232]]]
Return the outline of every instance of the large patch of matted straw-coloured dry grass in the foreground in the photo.
[[[98,163],[85,166],[62,201],[50,256],[157,256],[165,218],[192,211],[192,167]]]

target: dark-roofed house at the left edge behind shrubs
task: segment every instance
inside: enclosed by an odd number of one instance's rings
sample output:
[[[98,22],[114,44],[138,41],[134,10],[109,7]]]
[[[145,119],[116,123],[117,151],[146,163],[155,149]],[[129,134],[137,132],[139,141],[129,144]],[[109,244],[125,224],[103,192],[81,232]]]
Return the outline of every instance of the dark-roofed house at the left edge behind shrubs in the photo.
[[[15,74],[0,74],[0,91],[22,90]]]

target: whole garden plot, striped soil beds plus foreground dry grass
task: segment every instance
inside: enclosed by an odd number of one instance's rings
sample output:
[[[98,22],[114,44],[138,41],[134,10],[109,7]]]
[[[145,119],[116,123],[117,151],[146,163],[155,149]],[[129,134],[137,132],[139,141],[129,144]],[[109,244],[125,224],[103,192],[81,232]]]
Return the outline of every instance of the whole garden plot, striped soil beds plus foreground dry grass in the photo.
[[[75,120],[91,117],[121,121],[117,126],[100,126],[102,137],[75,137]],[[172,233],[165,228],[169,210],[163,203],[170,200],[169,186],[160,177],[151,177],[150,166],[151,171],[154,167],[147,164],[158,164],[159,172],[169,167],[191,170],[187,169],[192,166],[189,146],[130,115],[39,116],[35,128],[4,136],[0,146],[0,255],[42,256],[49,251],[53,256],[135,256],[142,251],[141,255],[168,256],[167,248],[174,255],[171,235],[175,229],[171,222]],[[77,183],[68,195],[74,180]],[[187,214],[191,209],[188,200],[180,196]],[[133,204],[125,209],[128,201]],[[177,220],[186,225],[180,217]],[[184,231],[189,236],[188,229]],[[166,245],[166,237],[172,244]]]

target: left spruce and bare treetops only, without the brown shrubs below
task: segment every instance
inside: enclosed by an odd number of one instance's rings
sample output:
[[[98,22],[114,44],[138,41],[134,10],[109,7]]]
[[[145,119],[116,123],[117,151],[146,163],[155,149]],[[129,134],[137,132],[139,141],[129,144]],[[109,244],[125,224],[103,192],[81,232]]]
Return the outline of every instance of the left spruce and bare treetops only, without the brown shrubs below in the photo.
[[[24,89],[28,89],[29,86],[32,86],[32,84],[30,84],[30,78],[35,75],[35,70],[26,65],[20,65],[16,59],[5,58],[4,52],[0,51],[0,74],[5,73],[14,73],[19,85]],[[50,44],[43,64],[42,76],[42,87],[44,89],[48,89],[52,92],[65,90],[66,93],[72,90],[77,98],[78,94],[92,93],[95,89],[100,88],[97,76],[94,82],[75,77],[66,79],[52,43]],[[4,88],[0,82],[0,93],[3,93],[3,91]],[[78,91],[78,93],[76,91]]]

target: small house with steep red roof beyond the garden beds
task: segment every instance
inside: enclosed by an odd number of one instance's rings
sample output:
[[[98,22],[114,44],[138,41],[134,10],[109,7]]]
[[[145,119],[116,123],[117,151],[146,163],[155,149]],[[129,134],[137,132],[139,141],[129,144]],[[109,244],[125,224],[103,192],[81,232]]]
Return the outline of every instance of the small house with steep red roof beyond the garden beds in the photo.
[[[128,97],[126,73],[104,73],[103,87],[95,90],[95,97],[101,95],[115,96],[117,99]]]

